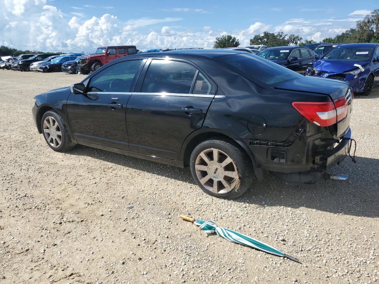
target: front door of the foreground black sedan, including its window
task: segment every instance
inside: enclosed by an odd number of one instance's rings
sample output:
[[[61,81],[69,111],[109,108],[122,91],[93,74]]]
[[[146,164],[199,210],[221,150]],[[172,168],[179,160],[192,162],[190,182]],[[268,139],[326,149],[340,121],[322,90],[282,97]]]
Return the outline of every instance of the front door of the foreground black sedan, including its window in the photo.
[[[113,64],[90,78],[85,94],[70,94],[67,116],[75,139],[129,150],[126,106],[143,60]]]

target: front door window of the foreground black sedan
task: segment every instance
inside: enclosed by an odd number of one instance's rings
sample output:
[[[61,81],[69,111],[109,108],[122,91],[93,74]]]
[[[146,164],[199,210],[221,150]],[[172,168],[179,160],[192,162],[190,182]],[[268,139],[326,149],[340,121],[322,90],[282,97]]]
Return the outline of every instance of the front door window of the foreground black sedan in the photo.
[[[89,92],[129,92],[142,60],[123,61],[97,73],[89,82]]]

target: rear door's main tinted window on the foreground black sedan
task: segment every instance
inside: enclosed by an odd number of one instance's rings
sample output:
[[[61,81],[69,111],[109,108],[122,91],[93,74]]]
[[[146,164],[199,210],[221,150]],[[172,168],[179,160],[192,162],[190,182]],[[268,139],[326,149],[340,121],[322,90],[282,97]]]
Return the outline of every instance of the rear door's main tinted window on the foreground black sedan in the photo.
[[[154,59],[141,92],[189,94],[195,72],[196,68],[185,62]]]

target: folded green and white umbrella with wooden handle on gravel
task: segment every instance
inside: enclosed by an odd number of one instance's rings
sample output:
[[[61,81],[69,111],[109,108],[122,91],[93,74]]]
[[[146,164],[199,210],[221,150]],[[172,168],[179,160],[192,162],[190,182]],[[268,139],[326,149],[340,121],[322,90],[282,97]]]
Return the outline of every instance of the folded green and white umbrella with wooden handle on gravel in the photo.
[[[248,237],[244,234],[237,233],[230,229],[219,227],[213,221],[204,221],[200,219],[191,218],[185,215],[179,215],[179,217],[182,218],[183,220],[192,222],[195,225],[199,226],[200,229],[204,230],[205,233],[207,234],[216,233],[220,237],[223,237],[224,239],[229,240],[229,242],[239,243],[247,247],[252,247],[252,248],[256,248],[257,250],[265,251],[266,253],[271,253],[277,256],[287,257],[289,259],[292,259],[293,261],[300,262],[299,259],[289,256],[285,253],[282,253],[280,250],[277,250],[276,248],[271,247],[271,245],[260,242],[259,240],[253,239],[252,237]]]

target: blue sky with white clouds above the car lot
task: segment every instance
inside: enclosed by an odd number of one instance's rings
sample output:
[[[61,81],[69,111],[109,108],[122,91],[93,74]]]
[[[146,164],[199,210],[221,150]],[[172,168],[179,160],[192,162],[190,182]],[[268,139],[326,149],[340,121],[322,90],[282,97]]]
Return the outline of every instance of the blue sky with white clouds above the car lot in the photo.
[[[320,3],[320,2],[318,2]],[[213,47],[232,34],[240,46],[264,31],[317,42],[354,28],[377,0],[80,1],[0,0],[0,45],[21,50],[93,52],[106,45]]]

